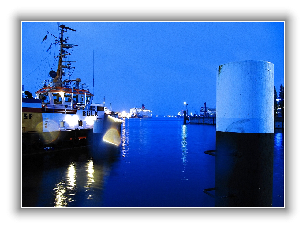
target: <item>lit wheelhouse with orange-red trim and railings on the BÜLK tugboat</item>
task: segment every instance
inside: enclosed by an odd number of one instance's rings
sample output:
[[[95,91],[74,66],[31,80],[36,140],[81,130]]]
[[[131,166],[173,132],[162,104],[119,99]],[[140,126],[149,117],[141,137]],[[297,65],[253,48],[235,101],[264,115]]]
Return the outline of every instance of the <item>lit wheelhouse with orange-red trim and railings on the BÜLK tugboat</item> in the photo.
[[[60,82],[44,80],[42,88],[35,94],[42,100],[42,113],[76,113],[77,110],[95,111],[97,108],[92,104],[89,84],[80,83],[79,78]]]

